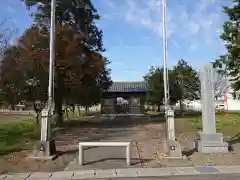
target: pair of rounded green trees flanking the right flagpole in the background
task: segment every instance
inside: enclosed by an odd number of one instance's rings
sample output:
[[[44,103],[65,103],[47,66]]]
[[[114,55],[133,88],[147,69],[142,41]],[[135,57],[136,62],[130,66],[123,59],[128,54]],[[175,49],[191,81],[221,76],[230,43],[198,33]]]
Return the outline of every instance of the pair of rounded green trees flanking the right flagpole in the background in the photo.
[[[163,68],[151,67],[144,80],[148,83],[150,92],[147,101],[151,105],[164,104]],[[177,65],[168,70],[170,104],[179,102],[181,112],[184,100],[197,100],[200,98],[200,80],[198,72],[185,60],[181,59]]]

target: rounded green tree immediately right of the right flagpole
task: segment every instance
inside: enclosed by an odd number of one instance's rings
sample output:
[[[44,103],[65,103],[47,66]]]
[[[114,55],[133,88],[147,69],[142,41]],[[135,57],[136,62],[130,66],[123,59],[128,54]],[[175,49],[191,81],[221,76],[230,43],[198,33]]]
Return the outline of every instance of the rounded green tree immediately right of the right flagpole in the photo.
[[[179,60],[173,67],[174,81],[177,88],[174,92],[175,99],[179,101],[181,113],[183,112],[183,100],[196,100],[200,98],[200,80],[196,70],[194,70],[183,59]]]

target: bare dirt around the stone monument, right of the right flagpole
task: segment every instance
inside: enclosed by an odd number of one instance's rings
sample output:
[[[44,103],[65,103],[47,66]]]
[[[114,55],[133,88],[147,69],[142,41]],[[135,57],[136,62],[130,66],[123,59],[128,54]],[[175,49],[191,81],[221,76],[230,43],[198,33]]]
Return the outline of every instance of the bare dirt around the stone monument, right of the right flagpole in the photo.
[[[216,166],[240,165],[240,141],[237,132],[224,134],[224,139],[229,143],[228,153],[203,154],[193,149],[197,132],[184,126],[184,120],[176,121],[176,136],[180,141],[183,152],[187,155],[188,166]],[[175,163],[173,166],[177,165]]]

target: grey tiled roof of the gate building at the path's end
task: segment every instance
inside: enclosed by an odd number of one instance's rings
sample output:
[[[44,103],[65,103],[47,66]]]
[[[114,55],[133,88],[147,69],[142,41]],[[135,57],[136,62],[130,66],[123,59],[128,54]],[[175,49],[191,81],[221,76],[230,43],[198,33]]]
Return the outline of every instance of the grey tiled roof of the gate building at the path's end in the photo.
[[[113,82],[107,92],[147,92],[145,82]]]

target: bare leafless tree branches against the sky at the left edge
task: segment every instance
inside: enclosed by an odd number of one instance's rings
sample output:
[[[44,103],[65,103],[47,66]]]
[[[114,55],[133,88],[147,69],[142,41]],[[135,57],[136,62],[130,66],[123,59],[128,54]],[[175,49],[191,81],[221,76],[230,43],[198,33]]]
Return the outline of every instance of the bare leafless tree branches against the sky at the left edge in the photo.
[[[10,45],[11,38],[17,32],[16,28],[6,27],[6,23],[9,19],[4,18],[0,20],[0,59],[7,47]]]

